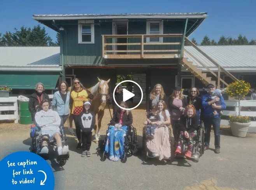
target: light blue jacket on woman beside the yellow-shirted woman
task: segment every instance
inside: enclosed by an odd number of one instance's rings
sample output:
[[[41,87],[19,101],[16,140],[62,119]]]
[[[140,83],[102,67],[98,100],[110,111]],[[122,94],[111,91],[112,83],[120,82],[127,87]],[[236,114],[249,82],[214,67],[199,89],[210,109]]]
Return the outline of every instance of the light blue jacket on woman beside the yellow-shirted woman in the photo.
[[[53,95],[52,106],[57,107],[57,112],[60,116],[65,116],[69,114],[69,103],[70,103],[70,92],[67,92],[67,99],[64,102],[60,96],[60,91],[57,91]]]

